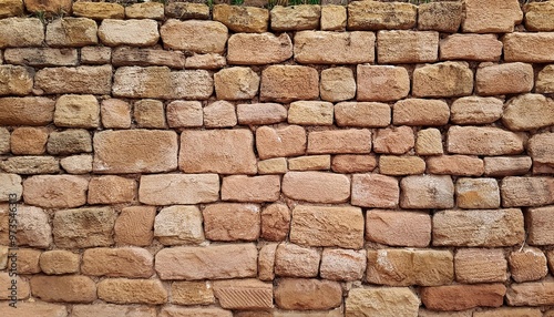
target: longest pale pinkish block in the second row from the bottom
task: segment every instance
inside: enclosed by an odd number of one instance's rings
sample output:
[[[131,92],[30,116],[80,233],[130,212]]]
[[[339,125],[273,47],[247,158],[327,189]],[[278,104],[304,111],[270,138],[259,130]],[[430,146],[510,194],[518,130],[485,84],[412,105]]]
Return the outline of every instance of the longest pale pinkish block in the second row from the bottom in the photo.
[[[255,277],[257,257],[254,244],[163,248],[156,254],[155,269],[162,279]]]

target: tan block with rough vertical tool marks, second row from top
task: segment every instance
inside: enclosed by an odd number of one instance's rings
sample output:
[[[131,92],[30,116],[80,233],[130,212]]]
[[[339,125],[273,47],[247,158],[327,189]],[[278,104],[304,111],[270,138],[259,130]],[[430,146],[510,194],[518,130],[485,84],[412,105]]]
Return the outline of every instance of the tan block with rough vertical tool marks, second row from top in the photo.
[[[377,60],[383,64],[424,63],[438,60],[439,32],[379,31]]]

